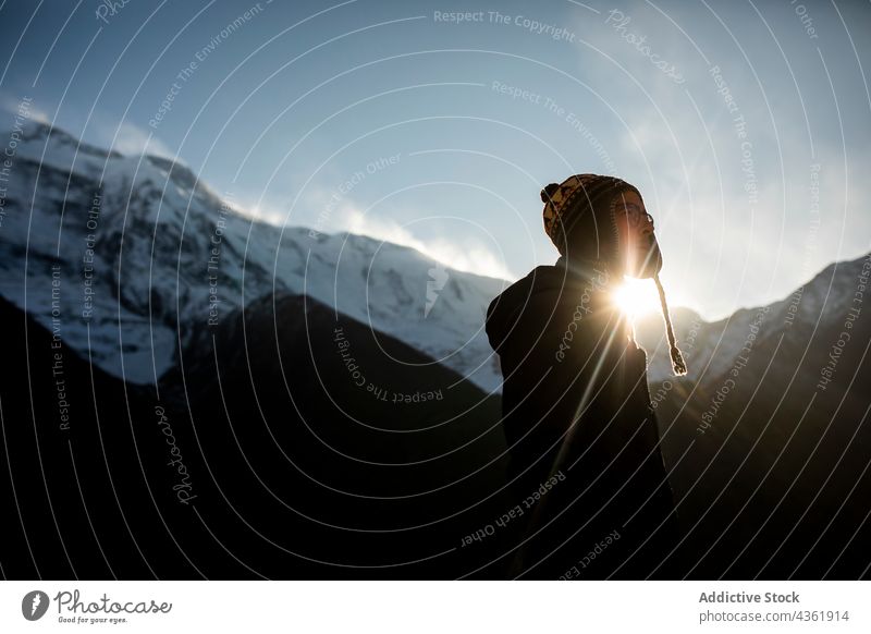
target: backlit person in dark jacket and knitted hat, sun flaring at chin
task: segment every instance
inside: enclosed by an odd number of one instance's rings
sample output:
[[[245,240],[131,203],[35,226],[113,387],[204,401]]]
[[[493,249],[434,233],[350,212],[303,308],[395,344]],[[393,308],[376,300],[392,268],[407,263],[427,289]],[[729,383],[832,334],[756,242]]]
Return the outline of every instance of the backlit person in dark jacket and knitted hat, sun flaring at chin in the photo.
[[[639,191],[576,174],[541,192],[560,252],[490,304],[503,375],[520,578],[671,578],[674,500],[647,386],[647,356],[612,298],[623,276],[659,289],[675,375],[686,374]]]

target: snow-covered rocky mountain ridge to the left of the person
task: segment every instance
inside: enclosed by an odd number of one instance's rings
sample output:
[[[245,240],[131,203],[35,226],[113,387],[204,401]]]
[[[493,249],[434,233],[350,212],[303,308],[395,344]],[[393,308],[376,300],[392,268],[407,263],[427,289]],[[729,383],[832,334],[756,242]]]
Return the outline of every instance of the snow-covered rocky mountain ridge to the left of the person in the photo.
[[[180,346],[287,291],[499,389],[483,317],[504,280],[365,236],[253,221],[169,159],[108,153],[35,121],[9,134],[0,294],[108,373],[154,381]]]

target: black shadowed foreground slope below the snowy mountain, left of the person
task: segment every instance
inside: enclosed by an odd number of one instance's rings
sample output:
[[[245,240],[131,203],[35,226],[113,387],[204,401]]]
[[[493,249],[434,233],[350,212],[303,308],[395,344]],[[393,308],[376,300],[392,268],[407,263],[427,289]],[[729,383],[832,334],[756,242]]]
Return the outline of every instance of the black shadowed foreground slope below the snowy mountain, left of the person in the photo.
[[[52,349],[3,302],[7,363],[20,368],[0,392],[3,574],[451,578],[489,562],[502,536],[461,544],[507,507],[499,400],[342,319],[376,399],[336,353],[332,312],[297,296],[275,307],[278,345],[271,301],[254,306],[158,395]],[[429,392],[440,398],[415,402]]]

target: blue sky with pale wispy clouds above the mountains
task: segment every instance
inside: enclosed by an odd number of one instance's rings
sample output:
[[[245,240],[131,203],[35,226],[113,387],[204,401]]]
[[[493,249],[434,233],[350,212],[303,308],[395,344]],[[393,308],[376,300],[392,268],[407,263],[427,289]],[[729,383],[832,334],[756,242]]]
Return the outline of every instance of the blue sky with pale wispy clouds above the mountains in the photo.
[[[541,186],[613,173],[709,319],[871,249],[869,2],[108,7],[0,5],[0,127],[30,97],[258,218],[511,278],[556,258]]]

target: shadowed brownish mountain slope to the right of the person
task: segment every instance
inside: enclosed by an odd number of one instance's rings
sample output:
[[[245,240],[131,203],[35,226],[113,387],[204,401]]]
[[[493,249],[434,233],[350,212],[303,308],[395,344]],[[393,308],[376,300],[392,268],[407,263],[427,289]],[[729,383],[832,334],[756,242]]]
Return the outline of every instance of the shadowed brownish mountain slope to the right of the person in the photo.
[[[846,312],[819,326],[771,328],[746,366],[672,381],[659,403],[671,427],[672,481],[696,544],[695,576],[857,578],[871,554],[871,319],[859,316],[831,382],[821,370],[847,330]],[[728,382],[733,378],[734,382]],[[727,388],[727,389],[726,389]],[[651,393],[662,383],[651,386]],[[724,397],[717,397],[727,392]],[[715,404],[716,403],[716,404]],[[704,422],[710,426],[706,428]],[[695,442],[694,442],[695,441]],[[708,552],[710,549],[710,552]]]

